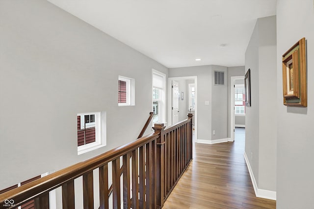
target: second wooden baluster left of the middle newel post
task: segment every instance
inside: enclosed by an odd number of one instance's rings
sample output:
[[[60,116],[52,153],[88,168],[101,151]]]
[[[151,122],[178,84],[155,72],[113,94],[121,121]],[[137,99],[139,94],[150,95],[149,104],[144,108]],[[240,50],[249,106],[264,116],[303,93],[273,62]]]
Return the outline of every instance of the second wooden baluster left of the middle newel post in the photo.
[[[139,148],[139,207],[145,208],[145,146]]]

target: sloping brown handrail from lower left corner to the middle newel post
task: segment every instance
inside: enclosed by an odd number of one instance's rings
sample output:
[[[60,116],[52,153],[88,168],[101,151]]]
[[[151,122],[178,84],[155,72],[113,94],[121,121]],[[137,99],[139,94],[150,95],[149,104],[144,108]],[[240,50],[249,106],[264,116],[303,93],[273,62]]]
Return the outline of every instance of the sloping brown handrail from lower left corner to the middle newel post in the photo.
[[[92,171],[104,165],[105,163],[108,163],[117,157],[123,156],[128,152],[131,152],[132,150],[143,146],[144,144],[157,138],[158,134],[149,134],[136,141],[132,141],[128,144],[105,152],[104,154],[71,165],[48,176],[4,192],[3,194],[0,194],[0,208],[2,205],[4,205],[4,201],[8,199],[13,199],[15,203],[27,202],[38,194],[51,191],[61,186],[63,183],[66,183],[72,179],[76,179],[82,176],[84,173]]]

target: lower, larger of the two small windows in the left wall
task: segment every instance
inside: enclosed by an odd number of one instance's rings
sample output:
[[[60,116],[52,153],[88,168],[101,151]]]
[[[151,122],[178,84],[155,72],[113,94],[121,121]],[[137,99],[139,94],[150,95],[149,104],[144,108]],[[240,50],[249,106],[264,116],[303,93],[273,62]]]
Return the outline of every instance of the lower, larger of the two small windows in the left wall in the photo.
[[[101,112],[78,114],[78,155],[105,146],[102,138],[102,119],[104,118],[101,118]]]

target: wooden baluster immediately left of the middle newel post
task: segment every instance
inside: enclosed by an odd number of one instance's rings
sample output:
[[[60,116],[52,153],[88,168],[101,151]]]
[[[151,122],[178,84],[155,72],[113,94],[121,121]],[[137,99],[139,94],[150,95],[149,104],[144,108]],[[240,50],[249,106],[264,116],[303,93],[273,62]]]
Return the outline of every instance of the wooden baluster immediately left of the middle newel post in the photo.
[[[146,144],[146,208],[151,209],[152,205],[152,142]]]

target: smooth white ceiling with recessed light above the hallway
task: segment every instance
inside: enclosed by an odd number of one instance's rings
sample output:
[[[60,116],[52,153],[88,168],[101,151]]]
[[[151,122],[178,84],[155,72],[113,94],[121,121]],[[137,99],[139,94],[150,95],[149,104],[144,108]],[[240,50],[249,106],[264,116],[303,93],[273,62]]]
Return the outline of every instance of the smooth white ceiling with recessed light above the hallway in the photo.
[[[257,18],[276,14],[276,0],[49,1],[168,68],[244,65]]]

